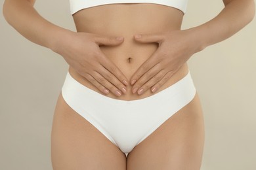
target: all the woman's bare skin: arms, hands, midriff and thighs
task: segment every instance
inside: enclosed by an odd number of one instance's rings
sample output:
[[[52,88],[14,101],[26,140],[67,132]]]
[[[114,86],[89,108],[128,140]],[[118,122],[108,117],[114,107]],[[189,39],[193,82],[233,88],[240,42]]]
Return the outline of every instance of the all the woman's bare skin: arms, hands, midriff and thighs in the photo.
[[[33,3],[5,1],[5,18],[24,37],[66,59],[70,74],[81,84],[123,100],[142,99],[171,86],[188,73],[186,61],[194,53],[230,37],[254,15],[253,1],[224,0],[225,8],[216,18],[181,31],[183,14],[171,7],[102,5],[74,14],[79,31],[74,33],[43,20]],[[28,27],[29,23],[35,24]],[[124,39],[117,41],[117,36]],[[203,139],[196,95],[125,158],[60,94],[53,120],[53,169],[196,170],[202,162]]]

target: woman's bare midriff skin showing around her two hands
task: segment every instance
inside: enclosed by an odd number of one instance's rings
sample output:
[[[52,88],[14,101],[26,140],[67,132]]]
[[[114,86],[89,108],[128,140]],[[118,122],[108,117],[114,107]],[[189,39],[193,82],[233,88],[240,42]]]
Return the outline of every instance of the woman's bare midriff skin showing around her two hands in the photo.
[[[99,35],[122,36],[124,42],[119,46],[100,46],[102,52],[111,59],[123,74],[130,80],[131,76],[158,48],[157,43],[139,43],[133,40],[138,33],[161,33],[181,29],[183,13],[179,9],[156,5],[152,3],[111,4],[100,5],[79,10],[74,15],[74,22],[78,32],[96,33]],[[84,86],[101,93],[88,80],[70,67],[70,75]],[[171,86],[188,73],[188,66],[184,64],[161,88]],[[107,96],[134,100],[153,95],[150,90],[142,95],[131,92],[127,86],[127,94],[116,97],[109,93]]]

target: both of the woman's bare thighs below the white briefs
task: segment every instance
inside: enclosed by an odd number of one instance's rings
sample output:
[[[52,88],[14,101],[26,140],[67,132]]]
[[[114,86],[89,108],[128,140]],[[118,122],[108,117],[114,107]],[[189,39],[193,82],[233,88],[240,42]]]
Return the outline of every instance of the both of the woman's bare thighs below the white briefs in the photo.
[[[138,144],[127,158],[58,98],[52,131],[54,169],[200,169],[203,114],[198,95]]]

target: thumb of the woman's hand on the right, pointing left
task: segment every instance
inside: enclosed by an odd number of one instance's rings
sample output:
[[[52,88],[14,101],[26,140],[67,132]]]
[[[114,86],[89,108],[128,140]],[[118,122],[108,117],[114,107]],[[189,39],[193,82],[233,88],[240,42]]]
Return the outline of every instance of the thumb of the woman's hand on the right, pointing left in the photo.
[[[146,43],[146,42],[162,42],[163,34],[158,33],[144,33],[134,35],[135,41]]]

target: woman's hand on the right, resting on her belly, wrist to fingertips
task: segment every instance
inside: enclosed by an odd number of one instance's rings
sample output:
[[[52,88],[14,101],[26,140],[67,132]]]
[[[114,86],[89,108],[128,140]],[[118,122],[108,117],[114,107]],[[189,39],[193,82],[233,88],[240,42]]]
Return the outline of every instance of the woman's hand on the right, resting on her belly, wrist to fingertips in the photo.
[[[190,29],[140,34],[134,38],[141,43],[159,44],[156,52],[131,77],[132,91],[139,95],[149,88],[156,92],[194,53],[200,51],[200,43]]]

